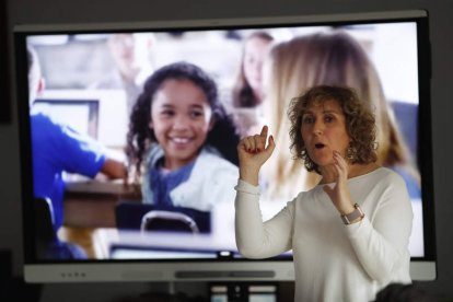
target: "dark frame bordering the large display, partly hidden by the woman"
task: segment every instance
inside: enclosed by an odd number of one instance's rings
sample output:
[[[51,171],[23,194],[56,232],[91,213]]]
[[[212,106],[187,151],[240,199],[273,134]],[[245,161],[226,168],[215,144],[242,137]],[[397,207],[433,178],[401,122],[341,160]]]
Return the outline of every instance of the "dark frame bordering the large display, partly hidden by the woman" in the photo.
[[[33,177],[30,173],[32,166],[28,119],[28,93],[25,77],[27,66],[21,58],[26,58],[25,36],[27,34],[71,34],[95,32],[165,32],[184,28],[224,30],[231,27],[259,27],[281,25],[317,25],[317,24],[356,24],[369,22],[416,21],[418,27],[418,56],[419,56],[419,125],[423,127],[418,131],[419,159],[432,159],[431,144],[431,106],[430,102],[430,44],[428,12],[425,10],[367,12],[350,14],[325,15],[294,15],[280,18],[245,18],[219,20],[182,20],[155,21],[131,23],[85,23],[85,24],[24,24],[14,26],[14,60],[16,69],[16,104],[21,141],[21,181],[23,205],[23,240],[24,240],[24,276],[27,282],[72,282],[72,281],[183,281],[183,280],[293,280],[292,259],[289,260],[251,260],[229,259],[212,260],[86,260],[83,263],[55,263],[37,262],[34,254],[34,239],[28,232],[28,223],[34,223],[33,217]],[[420,59],[422,58],[422,59]],[[427,79],[428,78],[428,79]],[[423,101],[421,101],[423,100]],[[26,102],[25,102],[26,101]],[[422,199],[423,202],[423,236],[425,257],[410,259],[410,276],[414,280],[434,280],[437,278],[435,263],[435,230],[434,230],[434,201],[432,160],[419,160],[422,171]],[[28,226],[27,226],[28,225]],[[32,224],[33,225],[33,224]],[[194,265],[195,264],[195,265]],[[257,269],[259,267],[259,269]]]

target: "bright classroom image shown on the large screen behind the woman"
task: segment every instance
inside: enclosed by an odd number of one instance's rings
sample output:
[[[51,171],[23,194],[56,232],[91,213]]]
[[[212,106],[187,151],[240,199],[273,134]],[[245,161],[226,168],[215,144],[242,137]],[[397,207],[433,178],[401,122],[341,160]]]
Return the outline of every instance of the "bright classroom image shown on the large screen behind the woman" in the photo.
[[[425,255],[415,23],[58,33],[27,45],[38,259],[242,258],[237,142],[264,125],[277,138],[259,175],[269,219],[320,181],[292,159],[286,114],[316,84],[352,86],[375,108],[379,163],[406,181],[409,248]]]

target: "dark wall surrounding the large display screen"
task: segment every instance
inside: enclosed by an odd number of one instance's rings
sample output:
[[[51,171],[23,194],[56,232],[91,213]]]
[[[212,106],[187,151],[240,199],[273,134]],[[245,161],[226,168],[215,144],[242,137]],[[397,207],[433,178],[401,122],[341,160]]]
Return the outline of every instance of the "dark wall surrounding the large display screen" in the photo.
[[[426,9],[430,14],[432,49],[432,130],[434,161],[434,191],[438,242],[438,280],[422,282],[428,291],[453,297],[453,248],[452,230],[453,186],[453,100],[451,79],[453,70],[453,2],[450,0],[317,0],[317,1],[275,1],[275,0],[5,0],[10,33],[15,24],[155,21],[178,19],[217,19],[243,16],[278,16],[295,14],[328,14],[350,12],[373,12],[388,10]],[[10,36],[11,38],[11,36]],[[10,47],[12,51],[12,46]],[[13,77],[12,65],[10,74]],[[13,78],[12,78],[13,79]],[[12,90],[12,88],[11,88]],[[12,91],[12,95],[13,91]],[[14,101],[12,101],[14,102]],[[0,102],[1,103],[1,102]],[[14,107],[14,103],[13,107]],[[12,121],[0,125],[0,248],[13,251],[13,271],[21,274],[21,188],[19,136],[15,112]],[[143,284],[121,286],[133,292]],[[148,287],[148,286],[147,286]],[[159,286],[156,286],[159,288]],[[185,288],[185,286],[181,286]],[[198,288],[202,291],[204,286]],[[82,292],[86,292],[82,294]],[[105,292],[108,292],[105,293]],[[46,286],[43,301],[112,301],[120,292],[115,284],[68,284]],[[72,294],[74,293],[74,294]],[[50,298],[51,297],[51,298]],[[65,297],[65,299],[62,299]],[[71,300],[72,299],[72,300]]]

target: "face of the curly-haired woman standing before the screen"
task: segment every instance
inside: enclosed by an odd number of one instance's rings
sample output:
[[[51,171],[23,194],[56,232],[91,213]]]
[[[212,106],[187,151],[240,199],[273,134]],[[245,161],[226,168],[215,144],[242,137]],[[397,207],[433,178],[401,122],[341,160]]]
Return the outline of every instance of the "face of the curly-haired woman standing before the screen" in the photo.
[[[334,163],[334,151],[346,158],[350,137],[345,114],[337,101],[313,104],[302,116],[302,139],[310,158],[320,167]]]

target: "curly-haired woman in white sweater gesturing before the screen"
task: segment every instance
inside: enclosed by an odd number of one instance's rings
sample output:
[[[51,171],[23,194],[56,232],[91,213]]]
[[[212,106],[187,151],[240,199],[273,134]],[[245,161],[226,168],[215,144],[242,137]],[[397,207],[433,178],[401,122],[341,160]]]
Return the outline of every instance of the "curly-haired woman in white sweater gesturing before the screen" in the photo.
[[[409,195],[399,174],[378,164],[365,104],[353,90],[330,85],[292,100],[290,146],[320,182],[266,222],[258,174],[276,142],[265,126],[237,144],[237,248],[249,258],[292,249],[294,301],[372,301],[386,284],[411,281]]]

